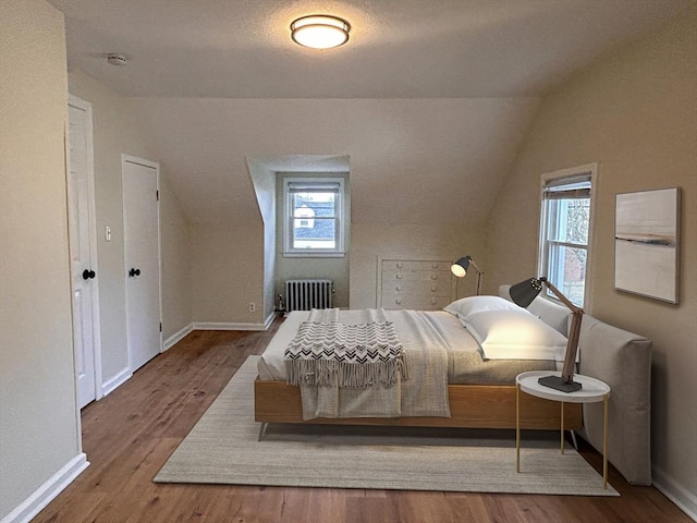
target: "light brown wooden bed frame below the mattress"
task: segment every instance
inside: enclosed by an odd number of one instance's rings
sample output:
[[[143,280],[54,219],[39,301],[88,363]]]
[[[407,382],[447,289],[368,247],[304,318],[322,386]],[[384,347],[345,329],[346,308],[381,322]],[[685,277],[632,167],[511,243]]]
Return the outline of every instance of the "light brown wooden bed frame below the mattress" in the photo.
[[[256,422],[322,425],[388,425],[401,427],[515,428],[514,385],[450,385],[452,417],[350,417],[303,419],[301,392],[284,381],[254,381]],[[521,428],[559,430],[559,402],[521,393]],[[564,405],[564,428],[583,426],[582,404]],[[264,430],[265,425],[262,425]],[[261,433],[260,433],[261,434]]]

